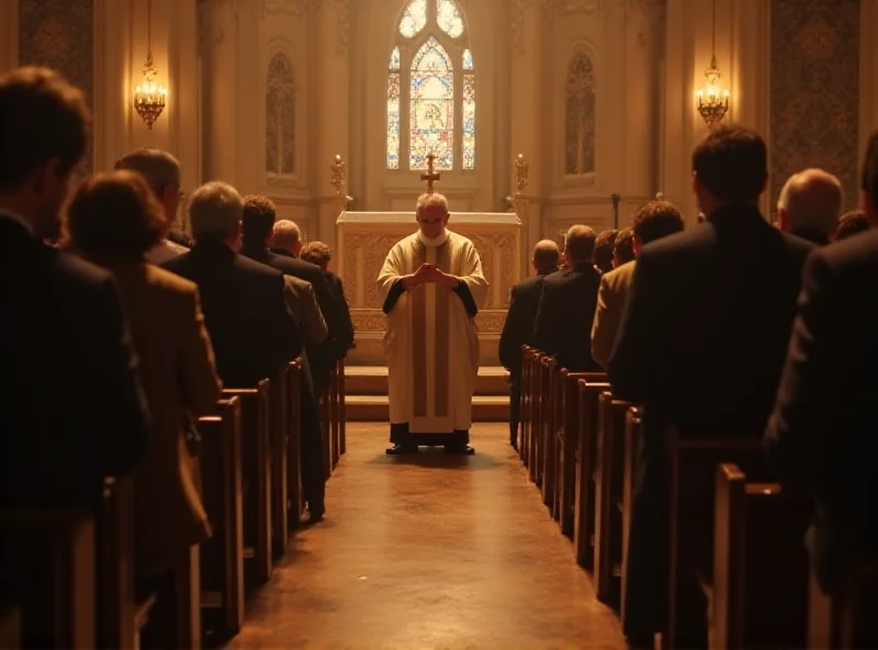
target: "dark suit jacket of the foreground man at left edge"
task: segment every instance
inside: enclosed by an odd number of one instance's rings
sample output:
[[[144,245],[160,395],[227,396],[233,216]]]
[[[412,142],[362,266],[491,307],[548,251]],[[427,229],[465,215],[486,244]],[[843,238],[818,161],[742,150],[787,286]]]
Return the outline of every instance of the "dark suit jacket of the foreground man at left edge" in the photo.
[[[113,277],[0,214],[0,501],[94,504],[149,415]]]

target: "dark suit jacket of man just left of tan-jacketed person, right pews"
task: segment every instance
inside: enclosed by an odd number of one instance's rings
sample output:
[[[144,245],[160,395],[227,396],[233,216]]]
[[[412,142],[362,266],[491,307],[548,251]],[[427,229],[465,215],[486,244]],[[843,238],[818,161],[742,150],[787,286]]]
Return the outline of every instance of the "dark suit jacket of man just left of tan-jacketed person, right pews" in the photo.
[[[562,368],[603,370],[592,358],[590,338],[599,285],[600,272],[590,262],[550,273],[543,281],[533,344]]]

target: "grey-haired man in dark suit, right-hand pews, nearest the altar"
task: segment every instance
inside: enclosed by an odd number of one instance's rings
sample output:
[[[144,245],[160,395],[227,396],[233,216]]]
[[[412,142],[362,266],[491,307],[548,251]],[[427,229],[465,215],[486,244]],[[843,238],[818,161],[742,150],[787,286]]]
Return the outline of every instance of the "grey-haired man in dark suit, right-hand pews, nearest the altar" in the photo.
[[[509,444],[518,449],[518,421],[521,399],[521,346],[533,343],[533,327],[537,310],[540,306],[542,283],[549,273],[558,270],[561,251],[551,239],[538,242],[533,247],[531,264],[537,274],[521,280],[510,292],[509,311],[500,334],[500,363],[509,371],[511,379],[509,402]]]

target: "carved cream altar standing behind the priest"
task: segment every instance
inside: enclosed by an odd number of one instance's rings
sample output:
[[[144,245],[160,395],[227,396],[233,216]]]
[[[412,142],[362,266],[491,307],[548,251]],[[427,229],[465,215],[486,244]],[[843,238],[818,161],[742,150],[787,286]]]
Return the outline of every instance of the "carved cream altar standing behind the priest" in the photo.
[[[476,323],[482,366],[498,366],[497,343],[509,290],[521,279],[521,221],[515,213],[454,213],[448,228],[475,245],[482,271],[491,283]],[[345,283],[357,332],[357,348],[348,363],[384,365],[384,314],[375,280],[391,247],[417,231],[413,212],[341,212],[336,222],[334,266]]]

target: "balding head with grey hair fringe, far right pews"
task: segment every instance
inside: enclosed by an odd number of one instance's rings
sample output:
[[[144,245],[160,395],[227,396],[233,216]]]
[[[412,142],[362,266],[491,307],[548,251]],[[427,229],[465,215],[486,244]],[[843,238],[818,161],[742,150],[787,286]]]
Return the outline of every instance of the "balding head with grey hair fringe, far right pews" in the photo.
[[[844,190],[841,181],[822,169],[793,173],[777,200],[777,221],[787,233],[819,233],[826,239],[838,227]]]

